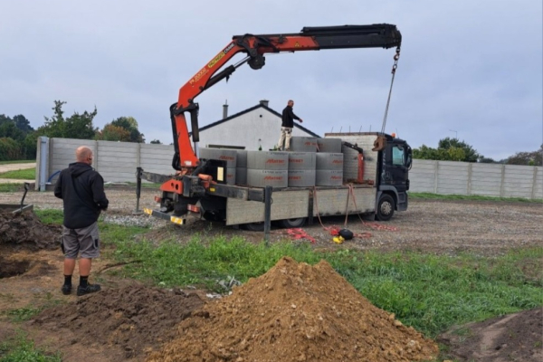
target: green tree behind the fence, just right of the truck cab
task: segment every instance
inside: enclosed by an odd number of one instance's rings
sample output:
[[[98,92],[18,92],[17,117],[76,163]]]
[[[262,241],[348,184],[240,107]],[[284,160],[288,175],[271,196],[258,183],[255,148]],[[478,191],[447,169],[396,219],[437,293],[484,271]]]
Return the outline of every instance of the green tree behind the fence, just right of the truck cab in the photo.
[[[443,138],[440,139],[437,148],[429,148],[426,145],[414,148],[413,157],[441,161],[477,162],[481,155],[472,146],[459,141],[458,138]]]

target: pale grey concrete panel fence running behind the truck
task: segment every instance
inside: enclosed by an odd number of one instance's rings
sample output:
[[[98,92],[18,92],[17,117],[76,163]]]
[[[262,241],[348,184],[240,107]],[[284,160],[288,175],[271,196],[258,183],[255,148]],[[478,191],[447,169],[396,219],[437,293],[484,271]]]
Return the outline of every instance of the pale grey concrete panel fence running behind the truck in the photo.
[[[75,149],[83,145],[93,150],[93,166],[106,182],[135,182],[136,167],[157,174],[174,173],[171,167],[173,146],[49,138],[46,178],[74,162]],[[38,153],[36,168],[41,165],[42,156]],[[367,166],[370,164],[367,162]],[[366,177],[375,174],[375,171],[366,171]],[[40,174],[36,172],[36,187],[40,185]],[[409,179],[412,192],[543,198],[543,167],[414,159]],[[56,176],[51,181],[54,184]]]

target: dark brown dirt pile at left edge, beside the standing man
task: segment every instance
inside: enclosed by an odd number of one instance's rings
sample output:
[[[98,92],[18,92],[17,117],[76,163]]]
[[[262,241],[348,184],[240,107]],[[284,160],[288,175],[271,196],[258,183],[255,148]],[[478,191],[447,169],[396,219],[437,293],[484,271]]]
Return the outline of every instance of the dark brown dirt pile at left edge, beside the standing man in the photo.
[[[36,251],[60,249],[62,226],[42,224],[36,214],[0,211],[0,246]]]

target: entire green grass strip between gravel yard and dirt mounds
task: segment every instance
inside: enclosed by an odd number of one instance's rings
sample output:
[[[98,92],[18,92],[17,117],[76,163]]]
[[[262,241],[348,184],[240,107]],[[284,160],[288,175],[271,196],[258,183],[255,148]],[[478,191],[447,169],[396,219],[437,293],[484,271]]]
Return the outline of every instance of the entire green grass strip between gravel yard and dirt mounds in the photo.
[[[110,256],[131,262],[119,273],[165,287],[195,285],[224,291],[218,281],[245,282],[268,271],[282,256],[331,265],[374,305],[428,337],[454,324],[529,310],[543,305],[543,248],[483,258],[420,253],[315,252],[309,244],[247,243],[242,238],[216,237],[203,243],[199,235],[186,244],[134,242],[142,228],[104,225]],[[128,232],[130,230],[130,232]],[[527,265],[531,265],[527,268]],[[537,271],[533,271],[536,269]]]

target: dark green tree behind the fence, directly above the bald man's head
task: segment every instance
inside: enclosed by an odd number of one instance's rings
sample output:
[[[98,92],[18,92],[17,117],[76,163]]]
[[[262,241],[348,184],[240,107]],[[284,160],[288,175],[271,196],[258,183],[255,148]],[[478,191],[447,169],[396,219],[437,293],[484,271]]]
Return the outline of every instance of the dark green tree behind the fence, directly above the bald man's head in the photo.
[[[92,139],[96,129],[92,126],[92,119],[96,117],[98,110],[94,107],[92,112],[84,111],[82,114],[74,112],[71,117],[64,119],[62,105],[65,101],[55,100],[52,110],[54,114],[51,119],[44,117],[45,124],[37,129],[38,136],[50,138],[77,138]]]

